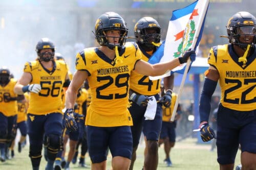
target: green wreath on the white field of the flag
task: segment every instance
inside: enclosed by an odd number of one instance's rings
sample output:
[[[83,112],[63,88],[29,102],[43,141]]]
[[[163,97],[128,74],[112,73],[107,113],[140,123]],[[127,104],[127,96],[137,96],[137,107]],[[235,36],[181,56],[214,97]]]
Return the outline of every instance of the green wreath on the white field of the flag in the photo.
[[[191,20],[191,22],[189,24],[187,24],[187,27],[185,29],[185,34],[182,38],[181,43],[178,46],[178,52],[174,53],[174,58],[180,57],[181,54],[183,54],[183,52],[187,51],[189,49],[189,47],[191,46],[195,33],[196,33],[196,29],[195,29],[196,25],[195,25],[195,21]],[[189,30],[189,31],[187,31]],[[188,32],[188,34],[187,34]],[[182,51],[183,49],[183,51]]]

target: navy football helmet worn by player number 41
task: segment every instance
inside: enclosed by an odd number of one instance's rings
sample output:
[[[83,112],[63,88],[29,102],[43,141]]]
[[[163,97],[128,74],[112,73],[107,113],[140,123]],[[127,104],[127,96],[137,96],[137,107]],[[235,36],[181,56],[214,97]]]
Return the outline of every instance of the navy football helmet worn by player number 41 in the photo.
[[[156,33],[147,34],[147,29],[155,29]],[[159,43],[161,41],[161,27],[156,19],[143,17],[135,24],[134,35],[138,43],[152,47],[152,42]]]

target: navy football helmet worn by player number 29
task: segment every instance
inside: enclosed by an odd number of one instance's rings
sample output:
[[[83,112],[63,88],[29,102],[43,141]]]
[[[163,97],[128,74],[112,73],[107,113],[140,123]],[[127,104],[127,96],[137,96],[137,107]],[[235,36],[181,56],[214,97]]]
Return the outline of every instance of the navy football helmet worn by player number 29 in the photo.
[[[119,30],[121,31],[118,44],[109,43],[105,36],[105,31]],[[102,14],[95,23],[95,38],[102,46],[108,46],[110,49],[114,49],[117,45],[121,47],[124,45],[127,37],[128,29],[123,18],[115,12],[106,12]]]

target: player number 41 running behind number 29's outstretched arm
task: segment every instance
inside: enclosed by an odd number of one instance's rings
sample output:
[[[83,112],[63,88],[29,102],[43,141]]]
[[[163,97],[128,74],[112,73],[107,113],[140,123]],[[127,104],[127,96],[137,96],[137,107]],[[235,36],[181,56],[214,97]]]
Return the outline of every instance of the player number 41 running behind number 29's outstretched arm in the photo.
[[[134,34],[138,49],[141,51],[141,60],[147,62],[161,43],[161,27],[154,18],[143,17],[137,21],[134,27]],[[133,156],[130,169],[133,169],[136,160],[136,150],[139,145],[142,129],[147,139],[144,169],[157,169],[158,139],[162,125],[162,103],[160,102],[159,95],[160,82],[160,79],[152,81],[148,76],[132,71],[130,81],[130,102],[132,105],[129,107],[129,111],[133,118],[133,126],[131,127],[133,134]],[[168,107],[172,99],[174,76],[164,78],[164,84],[166,93],[162,97],[162,102],[165,107]],[[145,119],[146,103],[150,98],[155,98],[155,101],[157,101],[156,115],[153,119]]]

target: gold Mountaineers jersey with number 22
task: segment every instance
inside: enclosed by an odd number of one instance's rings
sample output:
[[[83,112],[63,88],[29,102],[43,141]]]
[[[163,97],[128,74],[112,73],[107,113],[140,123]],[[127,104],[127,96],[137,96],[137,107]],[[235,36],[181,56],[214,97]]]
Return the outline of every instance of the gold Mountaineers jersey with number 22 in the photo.
[[[238,62],[238,56],[229,44],[212,47],[208,63],[220,74],[221,103],[239,111],[256,108],[256,52],[247,57],[247,63]]]

